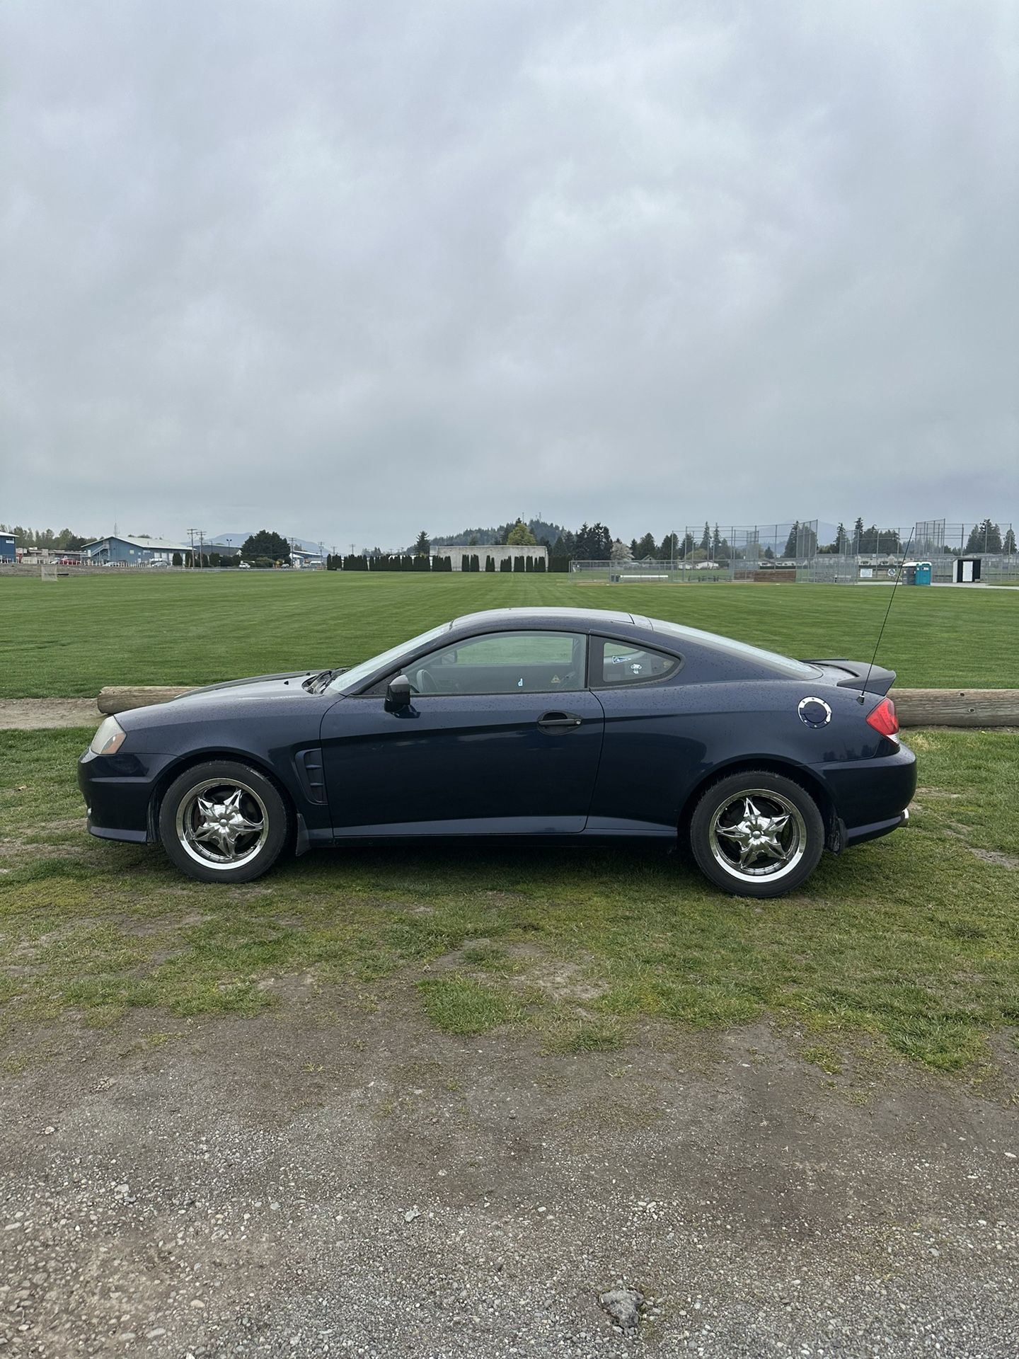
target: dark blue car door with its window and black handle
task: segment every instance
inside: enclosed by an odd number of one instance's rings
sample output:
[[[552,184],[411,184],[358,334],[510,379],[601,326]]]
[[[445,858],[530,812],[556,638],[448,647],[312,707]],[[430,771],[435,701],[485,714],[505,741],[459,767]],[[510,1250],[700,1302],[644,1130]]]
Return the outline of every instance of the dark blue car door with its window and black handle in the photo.
[[[605,727],[586,662],[579,633],[485,633],[414,660],[408,708],[386,709],[387,681],[340,700],[322,723],[334,834],[583,830]]]

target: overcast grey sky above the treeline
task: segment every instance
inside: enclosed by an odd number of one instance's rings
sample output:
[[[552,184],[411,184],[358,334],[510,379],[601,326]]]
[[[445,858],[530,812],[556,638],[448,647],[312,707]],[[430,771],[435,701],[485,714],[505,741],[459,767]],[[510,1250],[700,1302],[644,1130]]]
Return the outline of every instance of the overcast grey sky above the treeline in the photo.
[[[5,0],[0,519],[1019,520],[1019,4]]]

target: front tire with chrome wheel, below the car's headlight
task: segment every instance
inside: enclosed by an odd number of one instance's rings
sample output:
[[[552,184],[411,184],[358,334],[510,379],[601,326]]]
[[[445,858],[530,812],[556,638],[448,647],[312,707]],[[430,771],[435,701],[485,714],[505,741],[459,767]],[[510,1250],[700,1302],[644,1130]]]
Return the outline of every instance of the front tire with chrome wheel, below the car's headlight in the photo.
[[[288,833],[287,803],[276,784],[232,760],[186,769],[159,809],[167,858],[198,882],[261,878],[280,858]]]

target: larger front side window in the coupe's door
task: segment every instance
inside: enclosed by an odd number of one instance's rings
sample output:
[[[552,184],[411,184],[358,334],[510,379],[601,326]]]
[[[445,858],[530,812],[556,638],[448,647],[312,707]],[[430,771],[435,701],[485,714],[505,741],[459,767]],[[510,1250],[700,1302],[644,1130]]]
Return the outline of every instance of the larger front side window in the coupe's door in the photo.
[[[414,693],[569,693],[584,688],[587,639],[569,632],[490,632],[433,651],[406,675]]]

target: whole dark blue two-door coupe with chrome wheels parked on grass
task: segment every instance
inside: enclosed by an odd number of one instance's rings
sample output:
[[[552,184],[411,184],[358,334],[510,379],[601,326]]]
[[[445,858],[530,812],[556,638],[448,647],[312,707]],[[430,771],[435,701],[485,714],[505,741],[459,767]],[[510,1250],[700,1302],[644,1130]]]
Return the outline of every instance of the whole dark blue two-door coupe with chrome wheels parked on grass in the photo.
[[[777,897],[906,821],[893,680],[640,614],[495,609],[107,718],[79,783],[94,836],[162,841],[204,882],[348,841],[637,836]]]

